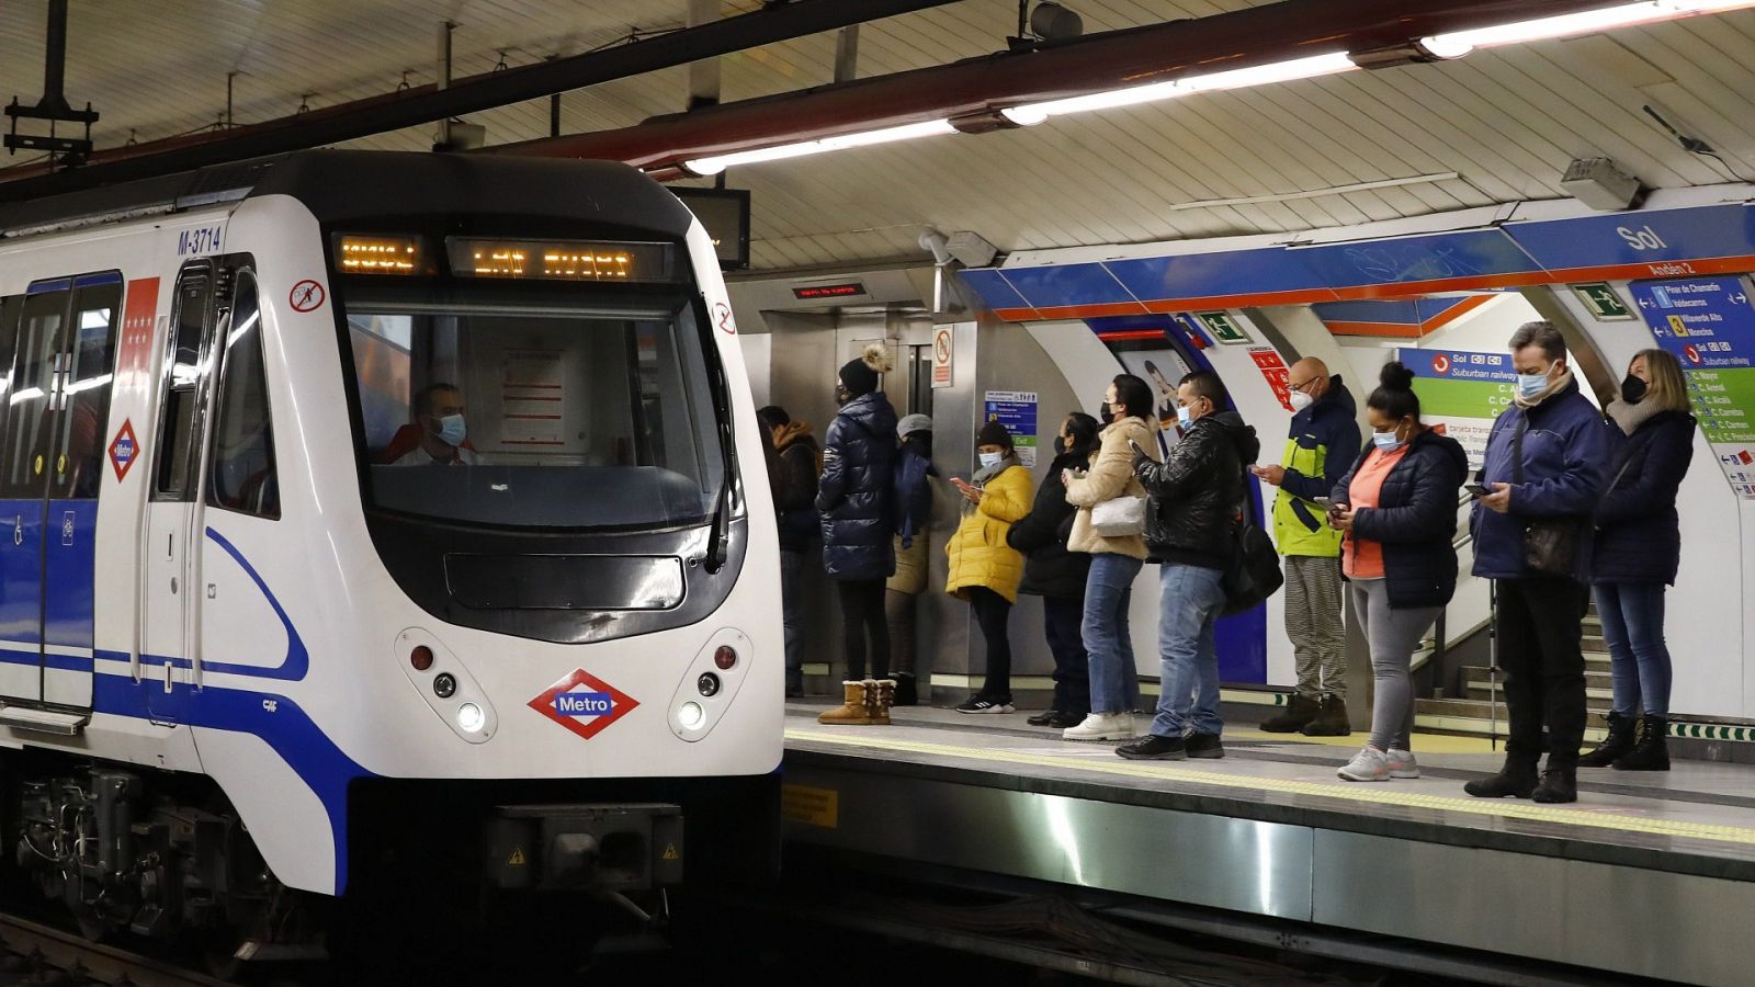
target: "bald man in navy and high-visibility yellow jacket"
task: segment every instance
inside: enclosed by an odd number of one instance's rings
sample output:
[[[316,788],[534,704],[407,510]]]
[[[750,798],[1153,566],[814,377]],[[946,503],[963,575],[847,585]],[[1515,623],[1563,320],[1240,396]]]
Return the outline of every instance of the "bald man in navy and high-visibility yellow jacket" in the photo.
[[[1346,717],[1346,625],[1341,620],[1341,532],[1325,523],[1327,497],[1358,457],[1358,409],[1339,376],[1307,357],[1292,365],[1292,436],[1281,465],[1253,467],[1279,488],[1274,544],[1286,557],[1286,638],[1299,688],[1264,731],[1353,732]]]

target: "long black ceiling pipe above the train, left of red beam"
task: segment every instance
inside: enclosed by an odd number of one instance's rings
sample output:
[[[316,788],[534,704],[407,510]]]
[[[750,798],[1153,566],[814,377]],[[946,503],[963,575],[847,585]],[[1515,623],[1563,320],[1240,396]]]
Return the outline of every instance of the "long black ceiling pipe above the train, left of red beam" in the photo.
[[[0,170],[0,202],[337,144],[955,2],[958,0],[793,0],[772,4],[749,14],[620,47],[537,61],[505,72],[484,72],[458,79],[442,90],[418,86],[309,111],[295,118],[132,148],[112,148],[93,155],[90,163],[72,170],[47,172],[42,165],[4,169]]]

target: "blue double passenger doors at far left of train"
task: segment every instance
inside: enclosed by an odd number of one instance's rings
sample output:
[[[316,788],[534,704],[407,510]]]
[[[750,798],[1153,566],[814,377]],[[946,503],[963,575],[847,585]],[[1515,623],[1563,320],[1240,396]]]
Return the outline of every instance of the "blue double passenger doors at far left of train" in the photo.
[[[121,276],[32,285],[19,318],[0,455],[5,694],[91,706],[98,488]],[[35,662],[30,655],[35,653]]]

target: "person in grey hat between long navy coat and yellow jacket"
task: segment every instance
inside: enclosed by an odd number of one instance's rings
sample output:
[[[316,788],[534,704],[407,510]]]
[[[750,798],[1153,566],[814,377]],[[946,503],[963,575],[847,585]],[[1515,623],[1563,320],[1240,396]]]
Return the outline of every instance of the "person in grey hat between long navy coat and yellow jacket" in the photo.
[[[907,414],[895,427],[900,448],[895,455],[895,576],[885,583],[883,608],[890,623],[895,704],[920,702],[914,680],[914,613],[920,594],[927,592],[928,529],[932,527],[932,418]]]

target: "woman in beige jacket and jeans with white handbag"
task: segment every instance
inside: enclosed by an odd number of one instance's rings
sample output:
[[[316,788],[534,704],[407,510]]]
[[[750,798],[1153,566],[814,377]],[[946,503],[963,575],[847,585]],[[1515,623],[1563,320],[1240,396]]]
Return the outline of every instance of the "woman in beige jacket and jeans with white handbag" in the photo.
[[[1085,650],[1090,652],[1092,711],[1085,722],[1067,727],[1065,739],[1128,739],[1134,736],[1134,710],[1139,708],[1139,673],[1134,669],[1134,641],[1127,611],[1134,597],[1134,580],[1146,562],[1144,532],[1100,536],[1092,527],[1092,509],[1118,497],[1144,497],[1134,479],[1134,448],[1160,458],[1158,430],[1151,423],[1151,388],[1134,374],[1121,374],[1104,395],[1099,439],[1102,446],[1088,472],[1067,471],[1067,502],[1079,511],[1072,518],[1069,551],[1088,551],[1092,571],[1085,583]]]

